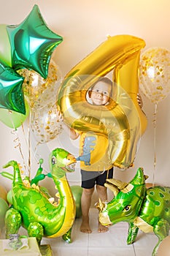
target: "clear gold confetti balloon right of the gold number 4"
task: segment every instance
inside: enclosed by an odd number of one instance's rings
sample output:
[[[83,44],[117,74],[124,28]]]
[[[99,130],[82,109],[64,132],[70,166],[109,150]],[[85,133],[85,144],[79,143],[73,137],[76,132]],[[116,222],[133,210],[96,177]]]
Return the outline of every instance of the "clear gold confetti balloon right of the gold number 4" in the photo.
[[[155,105],[170,92],[170,51],[149,48],[141,55],[139,64],[140,89]]]

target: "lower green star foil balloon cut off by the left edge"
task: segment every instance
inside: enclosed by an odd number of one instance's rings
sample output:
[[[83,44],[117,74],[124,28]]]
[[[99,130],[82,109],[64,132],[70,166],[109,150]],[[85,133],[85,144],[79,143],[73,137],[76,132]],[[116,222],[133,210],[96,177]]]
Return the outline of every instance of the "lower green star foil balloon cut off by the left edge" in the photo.
[[[26,114],[23,80],[14,69],[0,61],[0,108]]]

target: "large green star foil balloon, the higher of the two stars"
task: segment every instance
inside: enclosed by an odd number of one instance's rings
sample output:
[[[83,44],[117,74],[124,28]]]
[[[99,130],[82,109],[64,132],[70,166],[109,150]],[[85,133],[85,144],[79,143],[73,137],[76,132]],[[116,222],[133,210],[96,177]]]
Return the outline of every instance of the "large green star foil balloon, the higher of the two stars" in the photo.
[[[47,78],[48,66],[53,50],[63,41],[58,34],[48,29],[45,20],[34,5],[33,10],[22,23],[7,26],[11,45],[12,67],[34,69]]]

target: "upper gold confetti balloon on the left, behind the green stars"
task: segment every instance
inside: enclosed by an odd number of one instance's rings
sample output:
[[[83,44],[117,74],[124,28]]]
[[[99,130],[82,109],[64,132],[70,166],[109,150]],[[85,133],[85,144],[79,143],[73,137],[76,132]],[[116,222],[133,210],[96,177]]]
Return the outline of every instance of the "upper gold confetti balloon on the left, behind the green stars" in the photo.
[[[31,110],[39,110],[53,102],[53,97],[56,95],[55,84],[61,80],[61,72],[55,61],[50,61],[46,79],[32,69],[19,69],[18,73],[25,78],[23,92]]]

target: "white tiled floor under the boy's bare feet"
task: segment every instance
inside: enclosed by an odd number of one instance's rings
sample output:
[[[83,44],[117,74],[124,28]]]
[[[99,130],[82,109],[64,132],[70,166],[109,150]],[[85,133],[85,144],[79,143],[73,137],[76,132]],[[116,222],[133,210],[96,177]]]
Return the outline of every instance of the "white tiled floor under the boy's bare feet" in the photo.
[[[107,233],[98,233],[98,210],[90,209],[90,234],[80,232],[81,219],[76,219],[72,229],[72,244],[67,244],[61,237],[43,238],[42,244],[50,244],[54,256],[151,256],[152,249],[158,242],[153,233],[139,231],[134,244],[127,245],[128,224],[117,223],[109,227]],[[163,256],[163,255],[162,255]]]

